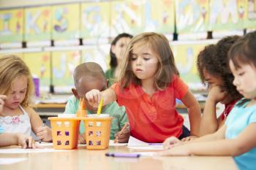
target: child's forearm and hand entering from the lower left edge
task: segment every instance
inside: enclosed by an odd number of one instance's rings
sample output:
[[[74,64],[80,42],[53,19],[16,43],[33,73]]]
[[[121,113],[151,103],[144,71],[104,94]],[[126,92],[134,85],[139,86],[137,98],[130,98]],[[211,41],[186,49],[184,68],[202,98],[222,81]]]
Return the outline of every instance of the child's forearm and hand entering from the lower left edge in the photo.
[[[26,143],[26,140],[29,140],[29,144]],[[36,148],[34,140],[31,136],[14,133],[0,134],[0,147],[7,147],[11,145],[20,145],[24,149],[27,147]]]

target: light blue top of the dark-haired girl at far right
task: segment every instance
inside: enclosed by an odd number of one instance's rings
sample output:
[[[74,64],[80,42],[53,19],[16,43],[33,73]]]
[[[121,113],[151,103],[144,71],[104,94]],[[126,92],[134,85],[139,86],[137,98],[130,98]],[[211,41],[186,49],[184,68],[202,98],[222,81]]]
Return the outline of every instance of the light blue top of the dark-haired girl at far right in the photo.
[[[246,107],[248,103],[249,100],[242,98],[231,110],[225,121],[225,125],[227,125],[225,134],[226,139],[236,139],[249,124],[256,123],[256,104]],[[255,169],[256,147],[242,155],[234,157],[234,160],[239,169]]]

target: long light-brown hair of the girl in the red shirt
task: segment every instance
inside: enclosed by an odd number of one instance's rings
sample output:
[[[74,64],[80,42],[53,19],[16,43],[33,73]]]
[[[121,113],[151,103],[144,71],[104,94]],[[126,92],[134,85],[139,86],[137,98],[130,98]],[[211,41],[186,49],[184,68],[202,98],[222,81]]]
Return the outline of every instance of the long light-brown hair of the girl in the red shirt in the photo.
[[[124,60],[121,63],[121,73],[118,77],[118,81],[121,82],[121,88],[127,88],[131,83],[141,85],[140,79],[132,72],[132,50],[135,44],[151,47],[154,55],[157,55],[159,69],[155,75],[154,86],[158,90],[165,89],[172,82],[173,74],[179,75],[179,73],[168,40],[162,34],[153,32],[139,34],[129,42],[124,53]]]

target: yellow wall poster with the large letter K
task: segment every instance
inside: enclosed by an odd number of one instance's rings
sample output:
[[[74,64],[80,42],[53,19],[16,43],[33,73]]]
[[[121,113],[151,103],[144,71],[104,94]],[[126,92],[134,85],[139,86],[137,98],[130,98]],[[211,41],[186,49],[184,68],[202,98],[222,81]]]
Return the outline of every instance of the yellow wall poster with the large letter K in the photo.
[[[35,7],[25,9],[25,40],[50,40],[51,7]]]

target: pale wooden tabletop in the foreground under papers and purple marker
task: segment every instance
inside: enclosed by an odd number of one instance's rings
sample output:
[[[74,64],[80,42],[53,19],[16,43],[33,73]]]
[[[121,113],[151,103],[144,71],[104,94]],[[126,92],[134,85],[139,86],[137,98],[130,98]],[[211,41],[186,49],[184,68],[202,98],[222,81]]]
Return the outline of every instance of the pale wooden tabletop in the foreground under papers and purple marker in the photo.
[[[1,149],[1,148],[0,148]],[[231,157],[222,156],[187,156],[187,157],[140,157],[112,158],[106,152],[142,152],[125,146],[109,147],[108,150],[86,150],[79,147],[67,152],[39,152],[20,154],[1,154],[0,158],[28,158],[26,161],[10,165],[0,165],[1,170],[64,170],[64,169],[97,169],[97,170],[233,170],[236,163]]]

